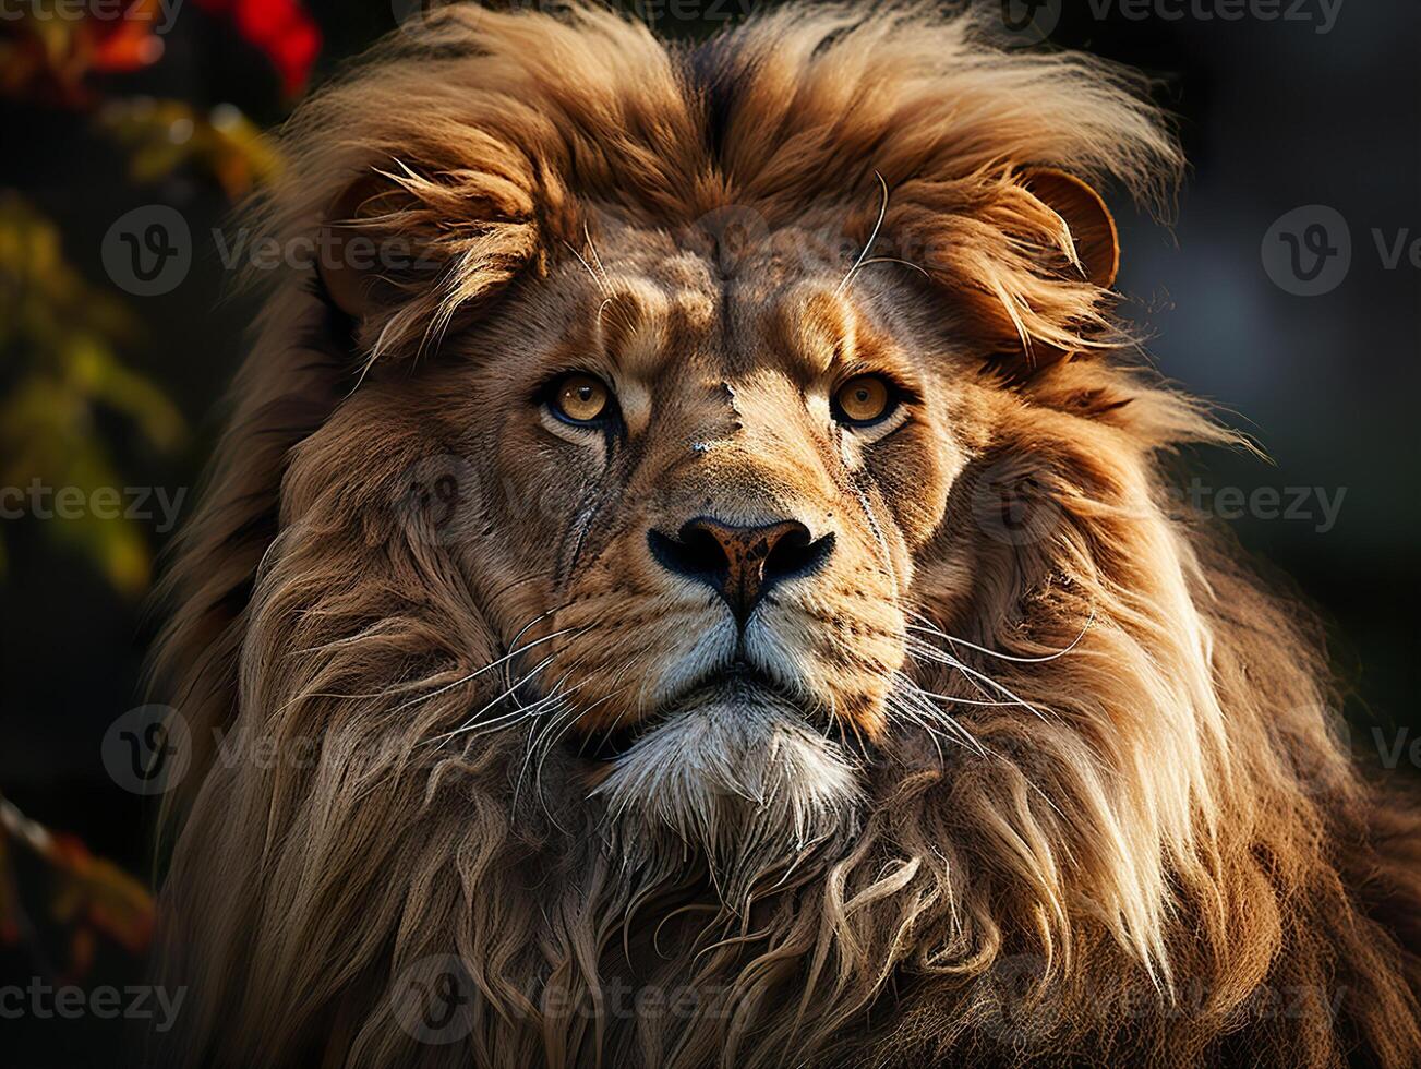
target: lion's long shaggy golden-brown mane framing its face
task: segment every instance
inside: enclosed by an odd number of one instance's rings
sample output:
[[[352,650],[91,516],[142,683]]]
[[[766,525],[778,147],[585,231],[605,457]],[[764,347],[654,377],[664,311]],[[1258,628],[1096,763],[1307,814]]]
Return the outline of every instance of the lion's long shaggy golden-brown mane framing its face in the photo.
[[[1339,741],[1309,614],[1167,492],[1181,446],[1236,439],[1131,368],[1113,264],[1023,185],[1165,203],[1147,88],[971,11],[814,4],[675,45],[455,4],[307,102],[254,226],[360,219],[412,256],[357,317],[276,273],[175,550],[153,672],[193,751],[161,968],[190,991],[155,1060],[1421,1065],[1421,819]],[[480,506],[448,537],[408,483],[473,456],[448,345],[516,350],[618,227],[713,232],[725,267],[736,226],[834,230],[836,274],[973,354],[902,594],[901,675],[958,734],[899,719],[826,766],[782,732],[779,779],[715,770],[750,816],[691,826],[693,797],[637,802],[682,789],[671,755],[591,785],[560,746],[530,763],[536,701],[455,734],[519,701],[517,554],[564,532]],[[990,536],[1003,483],[1030,537]],[[504,563],[470,576],[469,543]],[[428,962],[455,965],[452,1039],[406,1019]]]

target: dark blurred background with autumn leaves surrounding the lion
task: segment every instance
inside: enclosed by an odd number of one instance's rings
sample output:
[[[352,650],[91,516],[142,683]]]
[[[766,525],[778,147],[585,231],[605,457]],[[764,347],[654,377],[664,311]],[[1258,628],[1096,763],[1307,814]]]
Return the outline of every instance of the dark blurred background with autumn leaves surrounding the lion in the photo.
[[[624,6],[693,37],[760,4]],[[1228,520],[1317,606],[1354,742],[1412,775],[1421,6],[992,10],[1013,45],[1086,48],[1158,78],[1192,173],[1172,230],[1114,205],[1127,311],[1158,367],[1272,458],[1199,453],[1181,498]],[[111,1065],[122,1026],[109,1018],[122,1014],[90,995],[142,974],[156,800],[109,775],[102,741],[142,704],[145,594],[192,510],[254,311],[230,293],[213,230],[280,168],[264,132],[418,17],[418,0],[17,0],[0,11],[6,1065]],[[136,246],[165,209],[190,233],[190,263],[145,277]],[[60,1012],[36,978],[88,992],[84,1009]],[[7,1001],[14,985],[23,997]]]

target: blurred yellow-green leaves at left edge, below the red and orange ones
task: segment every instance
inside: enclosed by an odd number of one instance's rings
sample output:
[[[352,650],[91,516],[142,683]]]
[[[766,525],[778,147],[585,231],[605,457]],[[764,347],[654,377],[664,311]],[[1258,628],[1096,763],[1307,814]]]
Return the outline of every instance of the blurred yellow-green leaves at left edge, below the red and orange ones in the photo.
[[[64,262],[55,226],[18,195],[0,193],[0,355],[9,372],[0,394],[0,485],[27,492],[41,479],[51,492],[77,488],[85,502],[97,490],[117,492],[124,480],[97,419],[105,409],[152,448],[182,441],[178,409],[118,355],[139,337],[128,308]],[[84,507],[47,530],[117,589],[139,594],[148,587],[149,550],[134,520]]]

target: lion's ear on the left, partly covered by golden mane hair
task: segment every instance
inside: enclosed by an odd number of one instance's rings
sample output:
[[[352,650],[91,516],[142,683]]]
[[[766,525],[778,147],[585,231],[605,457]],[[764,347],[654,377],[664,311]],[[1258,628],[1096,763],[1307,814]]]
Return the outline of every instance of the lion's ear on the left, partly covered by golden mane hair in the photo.
[[[317,274],[371,350],[422,345],[539,256],[533,199],[509,175],[371,168],[331,202]]]

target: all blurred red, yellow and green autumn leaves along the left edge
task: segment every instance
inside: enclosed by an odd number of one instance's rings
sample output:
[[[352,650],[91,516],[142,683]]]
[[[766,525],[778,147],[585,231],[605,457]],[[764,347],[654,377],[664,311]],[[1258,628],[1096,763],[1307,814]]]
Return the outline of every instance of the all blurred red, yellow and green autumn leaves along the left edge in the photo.
[[[321,37],[300,0],[195,0],[192,9],[28,0],[0,18],[0,97],[92,112],[98,132],[126,149],[134,185],[188,172],[237,200],[270,181],[280,159],[236,107],[114,95],[115,75],[162,60],[163,34],[189,10],[232,24],[269,60],[287,100],[306,88]],[[152,556],[146,530],[124,515],[124,471],[145,452],[171,453],[186,426],[162,387],[124,360],[152,344],[144,320],[85,280],[63,245],[31,202],[0,189],[0,505],[7,516],[44,520],[36,527],[44,537],[136,597],[148,590]],[[61,492],[84,505],[60,509]],[[14,567],[6,533],[0,527],[0,581]],[[40,906],[30,911],[27,901]],[[0,948],[21,947],[37,971],[77,979],[102,945],[136,965],[152,930],[153,901],[138,880],[0,795]],[[60,965],[50,960],[54,944],[64,947]]]

